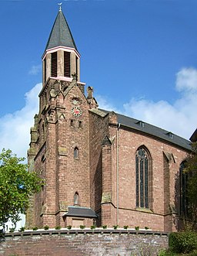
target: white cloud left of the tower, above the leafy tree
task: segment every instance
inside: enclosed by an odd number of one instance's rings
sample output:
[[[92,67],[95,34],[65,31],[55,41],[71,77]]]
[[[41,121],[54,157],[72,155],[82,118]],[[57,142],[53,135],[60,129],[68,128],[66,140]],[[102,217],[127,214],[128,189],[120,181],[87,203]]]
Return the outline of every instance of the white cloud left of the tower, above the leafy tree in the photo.
[[[42,84],[36,84],[25,94],[25,107],[0,118],[0,145],[11,149],[20,157],[26,157],[30,142],[30,128],[34,125],[34,116],[38,113],[38,93]]]

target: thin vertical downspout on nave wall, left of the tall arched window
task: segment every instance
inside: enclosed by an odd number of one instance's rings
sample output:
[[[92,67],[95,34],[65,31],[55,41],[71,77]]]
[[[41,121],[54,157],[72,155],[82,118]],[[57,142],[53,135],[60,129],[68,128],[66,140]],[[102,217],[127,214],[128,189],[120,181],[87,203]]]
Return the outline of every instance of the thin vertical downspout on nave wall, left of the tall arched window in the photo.
[[[119,225],[119,128],[116,130],[116,225]]]

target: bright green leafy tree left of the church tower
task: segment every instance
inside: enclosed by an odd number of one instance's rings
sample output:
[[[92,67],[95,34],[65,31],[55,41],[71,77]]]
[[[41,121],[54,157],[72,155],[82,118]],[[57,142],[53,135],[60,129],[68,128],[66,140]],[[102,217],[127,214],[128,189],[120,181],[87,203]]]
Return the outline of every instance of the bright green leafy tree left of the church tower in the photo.
[[[43,184],[35,172],[28,172],[24,160],[9,149],[0,153],[0,225],[3,227],[8,219],[14,224],[20,220],[19,214],[28,208],[29,196]]]

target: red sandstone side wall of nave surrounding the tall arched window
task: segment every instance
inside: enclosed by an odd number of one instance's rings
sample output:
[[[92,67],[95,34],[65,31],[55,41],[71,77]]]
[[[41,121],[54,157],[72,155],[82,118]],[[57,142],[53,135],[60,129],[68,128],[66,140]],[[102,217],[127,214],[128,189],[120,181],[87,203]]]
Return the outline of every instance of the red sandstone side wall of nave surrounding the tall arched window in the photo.
[[[111,128],[112,135],[115,135],[115,128]],[[139,146],[145,145],[152,158],[151,176],[151,201],[150,212],[146,210],[135,210],[135,152]],[[112,147],[112,159],[116,157],[116,139]],[[164,153],[172,153],[173,158],[168,163],[169,175],[166,174],[164,164]],[[119,225],[150,227],[153,230],[175,230],[172,224],[172,212],[169,205],[175,205],[175,178],[179,173],[179,166],[187,152],[180,148],[175,148],[165,142],[142,135],[137,132],[119,129]],[[112,176],[116,176],[115,166],[112,169]],[[166,188],[169,183],[169,189]],[[116,183],[113,191],[116,192]],[[116,207],[116,201],[114,200]],[[168,212],[167,212],[168,210]],[[114,215],[116,209],[114,208]],[[164,214],[170,213],[164,217]],[[167,223],[166,223],[167,222]],[[172,227],[173,226],[173,227]]]

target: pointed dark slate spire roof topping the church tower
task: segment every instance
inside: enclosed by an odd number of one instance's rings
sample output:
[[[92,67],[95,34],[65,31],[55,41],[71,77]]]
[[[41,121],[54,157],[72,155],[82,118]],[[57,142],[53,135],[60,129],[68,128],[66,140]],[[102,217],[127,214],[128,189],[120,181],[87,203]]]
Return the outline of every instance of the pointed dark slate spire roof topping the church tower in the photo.
[[[68,27],[68,23],[66,22],[65,15],[61,9],[58,11],[58,15],[53,24],[52,32],[48,38],[45,50],[57,46],[65,46],[77,50],[72,33]]]

